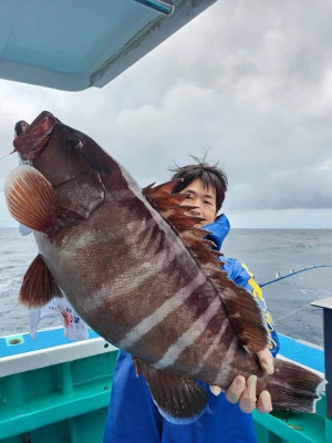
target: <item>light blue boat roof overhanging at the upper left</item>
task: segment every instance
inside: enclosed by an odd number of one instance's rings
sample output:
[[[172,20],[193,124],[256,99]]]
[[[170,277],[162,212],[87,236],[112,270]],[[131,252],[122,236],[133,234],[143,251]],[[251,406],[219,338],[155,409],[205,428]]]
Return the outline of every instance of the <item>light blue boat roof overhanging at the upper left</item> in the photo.
[[[1,1],[0,79],[103,87],[215,1]]]

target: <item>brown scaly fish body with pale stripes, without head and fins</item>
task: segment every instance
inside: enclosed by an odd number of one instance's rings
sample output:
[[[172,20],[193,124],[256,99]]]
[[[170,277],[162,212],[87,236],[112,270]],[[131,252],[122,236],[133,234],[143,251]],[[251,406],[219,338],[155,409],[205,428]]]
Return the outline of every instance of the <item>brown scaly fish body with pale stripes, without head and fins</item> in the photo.
[[[34,231],[56,284],[97,333],[156,368],[224,388],[238,373],[259,371],[197,260],[123,168],[121,175],[115,192],[103,181],[103,204],[86,220],[53,238]],[[235,361],[237,352],[245,361]]]

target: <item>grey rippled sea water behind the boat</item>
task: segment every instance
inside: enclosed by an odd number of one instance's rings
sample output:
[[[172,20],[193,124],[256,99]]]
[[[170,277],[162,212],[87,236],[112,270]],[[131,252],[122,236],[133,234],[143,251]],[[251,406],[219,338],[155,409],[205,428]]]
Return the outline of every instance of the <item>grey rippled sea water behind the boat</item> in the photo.
[[[22,277],[37,256],[32,235],[0,229],[0,336],[29,330],[28,309],[18,305]],[[277,272],[288,274],[312,265],[332,266],[332,230],[232,229],[222,247],[225,256],[243,261],[259,284]],[[287,336],[323,346],[323,317],[311,301],[330,297],[332,267],[294,275],[263,288],[276,329]],[[40,328],[61,324],[44,319]]]

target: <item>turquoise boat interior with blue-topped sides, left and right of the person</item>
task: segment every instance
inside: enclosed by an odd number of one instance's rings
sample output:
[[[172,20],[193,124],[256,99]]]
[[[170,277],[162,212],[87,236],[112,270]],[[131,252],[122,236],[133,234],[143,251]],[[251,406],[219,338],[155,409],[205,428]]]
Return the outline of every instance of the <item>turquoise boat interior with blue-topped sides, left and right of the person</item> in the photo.
[[[323,372],[322,349],[281,336],[282,357]],[[90,331],[73,342],[63,329],[0,338],[0,442],[102,442],[117,350]],[[328,443],[325,398],[317,414],[253,414],[260,443]],[[25,439],[25,440],[24,440]]]

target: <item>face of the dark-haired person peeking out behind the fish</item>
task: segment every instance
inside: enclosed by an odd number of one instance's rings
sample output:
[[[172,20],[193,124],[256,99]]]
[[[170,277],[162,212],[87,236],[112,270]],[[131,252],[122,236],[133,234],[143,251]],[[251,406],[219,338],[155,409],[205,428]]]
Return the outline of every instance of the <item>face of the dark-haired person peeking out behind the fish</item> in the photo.
[[[205,218],[205,222],[196,225],[197,227],[209,225],[215,222],[217,217],[217,196],[214,187],[206,188],[201,179],[196,178],[185,187],[180,194],[189,194],[183,205],[197,206],[197,208],[190,210],[190,214]]]

